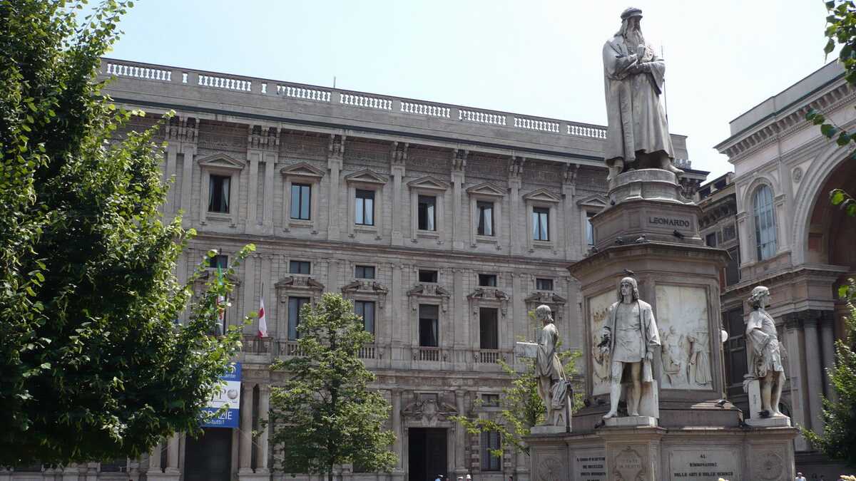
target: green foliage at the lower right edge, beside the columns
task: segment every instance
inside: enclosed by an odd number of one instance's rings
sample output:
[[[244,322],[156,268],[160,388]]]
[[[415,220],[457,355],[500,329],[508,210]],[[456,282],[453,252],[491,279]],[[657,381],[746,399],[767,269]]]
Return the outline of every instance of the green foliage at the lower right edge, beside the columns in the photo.
[[[830,458],[856,466],[856,282],[841,286],[839,294],[850,315],[845,318],[847,338],[835,341],[835,367],[829,369],[837,399],[823,399],[823,435],[805,429],[803,434]]]

